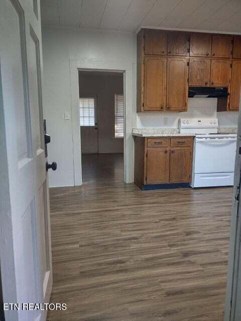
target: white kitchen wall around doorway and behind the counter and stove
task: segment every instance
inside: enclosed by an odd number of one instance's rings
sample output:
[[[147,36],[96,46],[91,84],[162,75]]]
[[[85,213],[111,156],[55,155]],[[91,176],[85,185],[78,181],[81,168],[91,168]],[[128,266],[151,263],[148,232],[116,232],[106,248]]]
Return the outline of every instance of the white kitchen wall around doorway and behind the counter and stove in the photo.
[[[48,146],[49,162],[56,161],[56,172],[49,171],[50,186],[73,186],[73,137],[71,120],[70,60],[95,62],[125,62],[133,64],[133,127],[178,127],[180,117],[218,117],[221,126],[236,126],[237,112],[216,113],[216,99],[189,99],[188,112],[136,113],[136,35],[131,33],[43,28],[44,117],[51,134]],[[136,116],[137,115],[137,116]],[[163,125],[163,118],[167,123]],[[128,138],[130,139],[130,138]]]

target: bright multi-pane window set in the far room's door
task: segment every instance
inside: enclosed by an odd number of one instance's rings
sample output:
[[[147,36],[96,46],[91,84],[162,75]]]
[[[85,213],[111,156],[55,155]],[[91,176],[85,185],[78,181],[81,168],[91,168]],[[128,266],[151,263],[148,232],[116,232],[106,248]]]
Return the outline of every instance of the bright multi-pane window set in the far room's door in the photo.
[[[79,120],[80,126],[94,126],[94,98],[79,98]]]

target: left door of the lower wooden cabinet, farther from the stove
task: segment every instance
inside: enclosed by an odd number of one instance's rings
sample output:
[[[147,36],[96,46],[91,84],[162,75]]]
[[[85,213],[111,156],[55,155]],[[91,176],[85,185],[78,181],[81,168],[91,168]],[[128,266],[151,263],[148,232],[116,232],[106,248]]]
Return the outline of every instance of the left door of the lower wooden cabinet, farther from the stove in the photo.
[[[169,183],[170,149],[148,148],[147,184]]]

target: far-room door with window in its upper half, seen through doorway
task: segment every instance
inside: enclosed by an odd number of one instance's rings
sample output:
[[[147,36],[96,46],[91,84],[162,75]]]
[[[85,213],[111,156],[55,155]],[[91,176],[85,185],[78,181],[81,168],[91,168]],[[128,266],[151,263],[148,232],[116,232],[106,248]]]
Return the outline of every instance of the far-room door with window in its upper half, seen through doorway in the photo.
[[[82,153],[98,152],[98,123],[96,96],[80,97],[80,137]]]

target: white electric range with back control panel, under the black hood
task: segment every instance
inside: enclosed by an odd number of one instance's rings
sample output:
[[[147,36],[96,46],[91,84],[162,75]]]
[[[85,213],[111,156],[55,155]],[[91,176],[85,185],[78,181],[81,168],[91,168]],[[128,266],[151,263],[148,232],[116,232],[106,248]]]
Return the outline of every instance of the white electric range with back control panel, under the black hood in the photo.
[[[219,134],[217,118],[180,118],[180,133],[195,133],[190,186],[232,186],[236,134]]]

